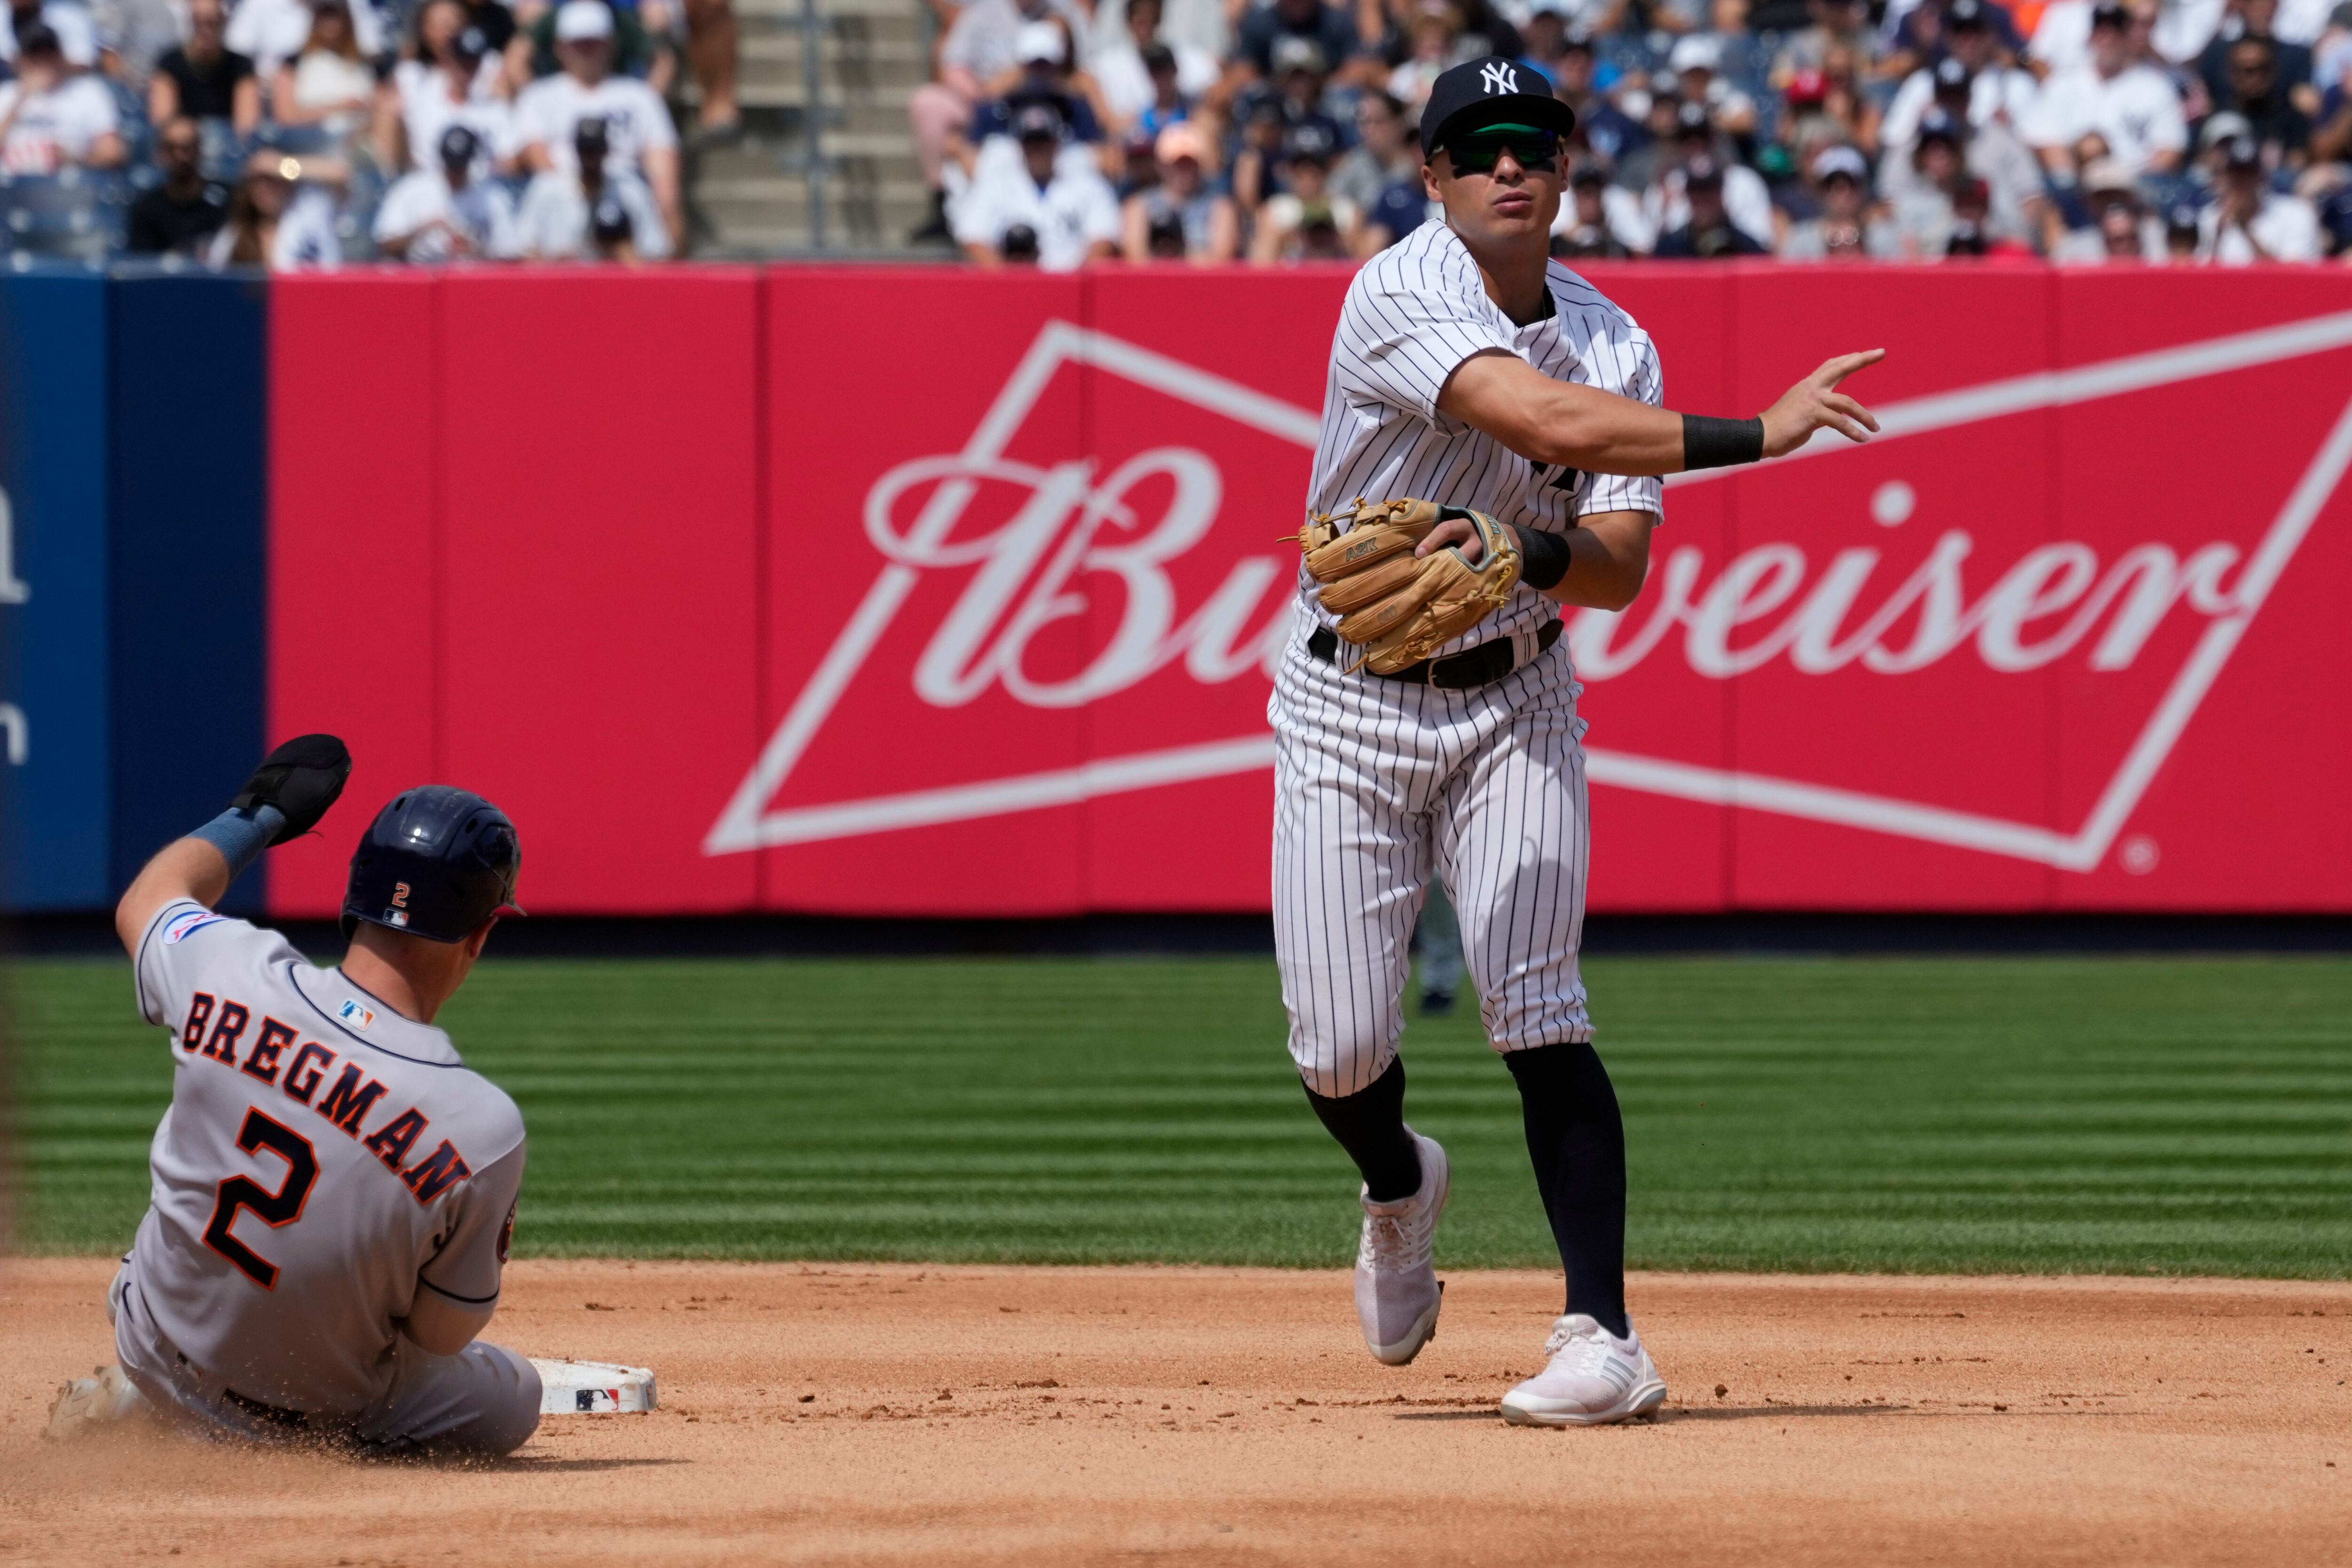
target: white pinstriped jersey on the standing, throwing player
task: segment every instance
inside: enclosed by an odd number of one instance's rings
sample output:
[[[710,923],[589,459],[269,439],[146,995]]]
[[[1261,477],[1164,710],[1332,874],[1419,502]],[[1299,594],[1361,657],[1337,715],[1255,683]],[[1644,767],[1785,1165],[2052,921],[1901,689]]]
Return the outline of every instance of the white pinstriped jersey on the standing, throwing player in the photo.
[[[1348,284],[1331,339],[1322,437],[1308,480],[1308,510],[1334,512],[1357,496],[1418,496],[1468,505],[1515,524],[1562,534],[1588,512],[1658,512],[1658,480],[1545,468],[1437,409],[1446,376],[1477,353],[1503,350],[1555,381],[1578,381],[1656,407],[1658,350],[1599,289],[1550,263],[1552,315],[1515,324],[1486,299],[1477,261],[1444,223],[1423,223],[1364,263]],[[1331,625],[1298,574],[1315,625]],[[1510,602],[1442,654],[1489,637],[1531,632],[1559,607],[1519,583]]]

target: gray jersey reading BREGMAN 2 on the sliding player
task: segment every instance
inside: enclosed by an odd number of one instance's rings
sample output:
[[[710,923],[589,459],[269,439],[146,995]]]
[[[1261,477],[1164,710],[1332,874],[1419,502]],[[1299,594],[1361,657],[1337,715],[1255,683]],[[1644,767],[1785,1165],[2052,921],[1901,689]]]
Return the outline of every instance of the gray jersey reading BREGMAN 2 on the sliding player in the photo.
[[[136,969],[174,1030],[132,1248],[155,1328],[245,1399],[369,1408],[419,1291],[496,1305],[522,1112],[440,1030],[200,903],[148,922]]]

